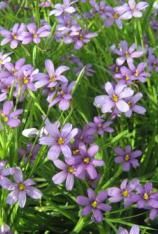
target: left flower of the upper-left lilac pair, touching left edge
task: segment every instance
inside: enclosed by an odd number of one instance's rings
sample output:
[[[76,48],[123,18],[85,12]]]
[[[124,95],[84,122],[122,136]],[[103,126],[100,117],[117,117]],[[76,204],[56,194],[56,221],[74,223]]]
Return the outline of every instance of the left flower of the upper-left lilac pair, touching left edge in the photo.
[[[15,49],[21,41],[21,35],[25,31],[25,24],[15,24],[11,31],[2,29],[0,34],[4,37],[1,41],[1,46],[10,43],[10,47]]]

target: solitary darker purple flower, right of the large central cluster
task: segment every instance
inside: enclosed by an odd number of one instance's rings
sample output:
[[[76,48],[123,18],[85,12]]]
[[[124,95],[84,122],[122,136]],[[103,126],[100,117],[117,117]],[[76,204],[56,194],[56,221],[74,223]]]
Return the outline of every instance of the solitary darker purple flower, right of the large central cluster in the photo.
[[[131,167],[138,167],[138,157],[142,155],[142,152],[140,150],[132,151],[131,146],[127,145],[125,149],[123,150],[120,147],[115,148],[115,163],[122,164],[123,171],[129,171]]]

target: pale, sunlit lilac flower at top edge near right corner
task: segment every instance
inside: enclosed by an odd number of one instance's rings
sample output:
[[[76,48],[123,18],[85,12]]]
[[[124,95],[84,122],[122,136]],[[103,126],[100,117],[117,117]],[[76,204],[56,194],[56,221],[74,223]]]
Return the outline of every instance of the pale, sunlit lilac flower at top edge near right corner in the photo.
[[[126,4],[125,4],[126,5]],[[128,1],[128,10],[121,16],[121,19],[131,19],[132,17],[142,17],[142,11],[145,10],[149,4],[147,2],[136,3],[135,0]]]

